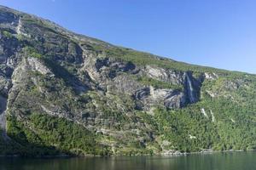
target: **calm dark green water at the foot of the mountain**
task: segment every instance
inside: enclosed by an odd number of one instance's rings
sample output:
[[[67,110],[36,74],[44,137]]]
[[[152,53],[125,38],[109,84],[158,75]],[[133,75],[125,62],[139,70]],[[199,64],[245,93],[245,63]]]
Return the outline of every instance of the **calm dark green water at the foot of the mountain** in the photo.
[[[1,158],[0,170],[256,170],[256,152],[189,156]]]

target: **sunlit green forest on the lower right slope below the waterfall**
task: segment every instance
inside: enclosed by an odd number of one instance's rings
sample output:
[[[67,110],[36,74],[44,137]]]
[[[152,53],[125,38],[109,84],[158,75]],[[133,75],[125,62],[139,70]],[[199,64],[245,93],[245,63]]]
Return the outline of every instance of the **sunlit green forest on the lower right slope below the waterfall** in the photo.
[[[203,116],[201,108],[207,108],[209,118]],[[239,108],[227,100],[214,100],[182,110],[157,110],[155,122],[160,125],[159,133],[163,134],[163,139],[171,142],[167,149],[183,152],[256,149],[255,122],[247,116],[247,111],[241,112]],[[216,122],[212,122],[211,111]],[[233,119],[236,122],[232,122]],[[189,135],[195,139],[190,139]]]

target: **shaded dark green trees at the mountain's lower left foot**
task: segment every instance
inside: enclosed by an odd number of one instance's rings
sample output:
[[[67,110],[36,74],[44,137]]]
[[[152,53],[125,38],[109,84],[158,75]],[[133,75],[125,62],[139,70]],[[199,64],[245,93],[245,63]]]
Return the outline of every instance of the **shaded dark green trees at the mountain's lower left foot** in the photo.
[[[26,123],[29,122],[29,127]],[[83,126],[54,116],[32,114],[27,122],[19,122],[14,116],[8,118],[8,135],[20,144],[25,156],[107,155],[107,146],[97,144],[96,134]]]

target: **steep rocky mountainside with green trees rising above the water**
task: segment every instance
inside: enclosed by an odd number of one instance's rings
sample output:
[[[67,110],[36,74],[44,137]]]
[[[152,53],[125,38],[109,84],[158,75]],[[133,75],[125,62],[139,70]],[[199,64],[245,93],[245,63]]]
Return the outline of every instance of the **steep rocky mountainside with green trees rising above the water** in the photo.
[[[0,33],[0,155],[256,149],[255,75],[117,47],[3,6]]]

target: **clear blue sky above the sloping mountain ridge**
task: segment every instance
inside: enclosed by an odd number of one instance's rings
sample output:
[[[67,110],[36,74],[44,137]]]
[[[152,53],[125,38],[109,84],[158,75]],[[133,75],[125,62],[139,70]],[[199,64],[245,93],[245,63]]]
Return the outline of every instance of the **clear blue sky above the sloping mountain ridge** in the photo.
[[[256,73],[255,0],[0,0],[0,4],[126,48]]]

